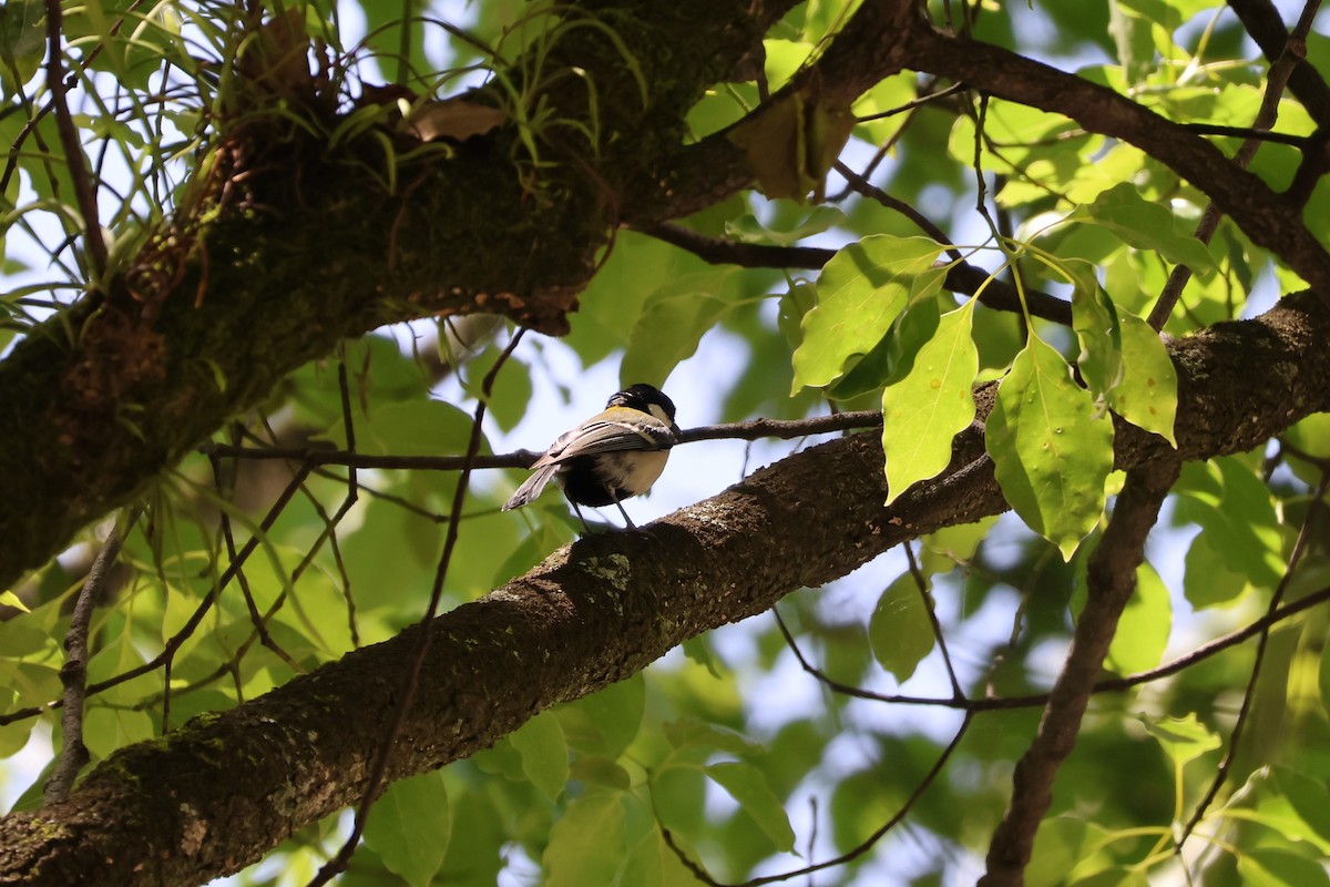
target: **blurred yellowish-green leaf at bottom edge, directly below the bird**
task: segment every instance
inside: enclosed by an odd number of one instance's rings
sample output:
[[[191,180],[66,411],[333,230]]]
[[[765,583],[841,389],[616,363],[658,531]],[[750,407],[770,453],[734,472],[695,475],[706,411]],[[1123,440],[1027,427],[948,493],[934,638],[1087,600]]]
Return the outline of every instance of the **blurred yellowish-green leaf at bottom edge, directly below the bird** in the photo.
[[[592,887],[614,883],[628,855],[620,793],[577,798],[549,830],[541,856],[547,887]]]

